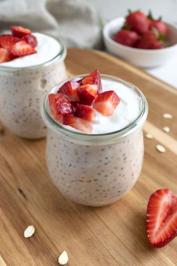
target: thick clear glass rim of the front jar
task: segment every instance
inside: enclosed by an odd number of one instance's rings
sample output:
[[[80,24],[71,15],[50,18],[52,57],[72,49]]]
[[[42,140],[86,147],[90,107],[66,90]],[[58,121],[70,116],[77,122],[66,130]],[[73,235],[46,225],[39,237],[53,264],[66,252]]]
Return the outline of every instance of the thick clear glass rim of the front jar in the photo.
[[[76,80],[76,78],[83,78],[85,76],[88,76],[89,74],[82,74],[78,76],[74,76],[72,78],[69,78],[67,80],[62,81],[58,85],[55,85],[45,96],[44,100],[41,103],[41,116],[44,120],[46,126],[53,131],[55,131],[56,134],[58,134],[61,138],[64,138],[65,140],[68,140],[70,142],[80,143],[80,144],[88,144],[88,145],[101,145],[107,143],[114,143],[118,142],[120,140],[123,140],[127,138],[129,135],[131,135],[133,132],[135,132],[138,128],[142,127],[145,123],[145,120],[148,115],[148,103],[144,96],[144,94],[141,92],[140,89],[138,89],[135,85],[133,85],[130,82],[124,81],[120,78],[117,78],[115,76],[106,75],[106,74],[100,74],[101,78],[114,80],[117,82],[121,82],[124,85],[127,85],[129,88],[132,88],[138,96],[141,98],[141,110],[137,116],[137,118],[129,123],[126,127],[103,134],[85,134],[81,132],[76,132],[72,130],[68,130],[67,128],[61,126],[55,120],[48,114],[46,104],[48,101],[48,95],[50,93],[55,93],[59,87],[61,87],[65,82],[71,81],[73,79]],[[100,138],[101,137],[101,138]],[[82,139],[80,139],[82,138]]]

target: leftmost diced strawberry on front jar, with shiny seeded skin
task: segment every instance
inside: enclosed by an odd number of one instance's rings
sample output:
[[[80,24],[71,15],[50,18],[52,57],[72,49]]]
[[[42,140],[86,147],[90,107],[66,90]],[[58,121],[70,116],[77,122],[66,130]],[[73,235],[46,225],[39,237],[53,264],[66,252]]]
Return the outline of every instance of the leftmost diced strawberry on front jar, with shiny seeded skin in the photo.
[[[70,101],[62,94],[49,94],[49,105],[54,117],[64,114],[74,114]]]

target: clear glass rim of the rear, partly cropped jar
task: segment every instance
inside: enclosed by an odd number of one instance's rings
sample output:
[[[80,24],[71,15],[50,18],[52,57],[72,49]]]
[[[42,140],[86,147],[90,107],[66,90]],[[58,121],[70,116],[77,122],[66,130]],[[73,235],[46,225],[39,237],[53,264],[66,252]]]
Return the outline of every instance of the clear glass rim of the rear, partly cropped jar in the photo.
[[[32,32],[32,33],[38,33],[38,32]],[[66,46],[62,43],[62,41],[60,39],[58,39],[57,37],[51,35],[51,34],[44,34],[47,36],[52,37],[53,39],[55,39],[56,41],[58,41],[58,43],[60,44],[61,48],[58,52],[58,54],[53,57],[52,59],[50,59],[47,62],[44,62],[42,64],[38,64],[38,65],[34,65],[34,66],[24,66],[24,67],[11,67],[11,66],[1,66],[0,64],[0,71],[9,71],[9,72],[16,72],[19,70],[23,70],[23,71],[29,71],[32,69],[38,69],[38,68],[45,68],[46,66],[49,66],[55,62],[58,63],[58,61],[62,61],[65,59],[66,55],[67,55],[67,48]]]

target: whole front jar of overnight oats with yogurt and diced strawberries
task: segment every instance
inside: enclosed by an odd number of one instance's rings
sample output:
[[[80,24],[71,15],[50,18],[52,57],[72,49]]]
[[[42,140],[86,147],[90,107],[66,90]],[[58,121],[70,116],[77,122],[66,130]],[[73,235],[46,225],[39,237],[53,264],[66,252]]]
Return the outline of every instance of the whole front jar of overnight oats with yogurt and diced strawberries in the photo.
[[[46,161],[65,196],[103,206],[126,194],[140,175],[148,105],[128,82],[98,70],[85,76],[55,86],[41,105]]]

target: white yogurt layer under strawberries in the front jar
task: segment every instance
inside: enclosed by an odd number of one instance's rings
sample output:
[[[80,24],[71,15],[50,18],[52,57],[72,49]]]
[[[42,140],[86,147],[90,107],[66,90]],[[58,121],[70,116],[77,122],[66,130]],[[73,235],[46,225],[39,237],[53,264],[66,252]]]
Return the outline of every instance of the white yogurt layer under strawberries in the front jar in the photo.
[[[132,123],[140,112],[141,99],[133,89],[112,80],[101,79],[101,82],[102,92],[114,90],[120,98],[120,103],[109,117],[105,117],[96,111],[96,119],[91,122],[93,126],[92,134],[103,134],[120,130],[129,123]],[[63,125],[62,120],[60,124],[69,130],[82,132],[71,126]]]

